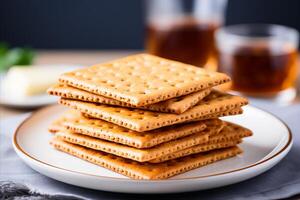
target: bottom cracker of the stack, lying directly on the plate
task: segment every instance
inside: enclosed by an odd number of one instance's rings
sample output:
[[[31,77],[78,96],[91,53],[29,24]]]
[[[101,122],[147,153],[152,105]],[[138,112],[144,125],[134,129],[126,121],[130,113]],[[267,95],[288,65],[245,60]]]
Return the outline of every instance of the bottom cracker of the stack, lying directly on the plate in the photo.
[[[133,179],[167,179],[180,173],[236,156],[242,153],[238,147],[213,150],[206,153],[194,154],[163,163],[139,163],[101,151],[88,149],[53,139],[52,146],[56,149],[76,156],[101,167],[123,174]]]

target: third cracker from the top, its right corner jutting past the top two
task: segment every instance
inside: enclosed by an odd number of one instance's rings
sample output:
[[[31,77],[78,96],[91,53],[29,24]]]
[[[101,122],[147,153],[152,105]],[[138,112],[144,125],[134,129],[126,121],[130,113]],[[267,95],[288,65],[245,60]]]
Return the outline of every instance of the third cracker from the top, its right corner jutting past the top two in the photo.
[[[199,120],[205,118],[206,115],[240,108],[246,105],[248,101],[243,97],[213,91],[196,106],[178,115],[133,108],[113,107],[70,99],[60,99],[59,103],[77,109],[92,117],[142,132],[182,122]]]

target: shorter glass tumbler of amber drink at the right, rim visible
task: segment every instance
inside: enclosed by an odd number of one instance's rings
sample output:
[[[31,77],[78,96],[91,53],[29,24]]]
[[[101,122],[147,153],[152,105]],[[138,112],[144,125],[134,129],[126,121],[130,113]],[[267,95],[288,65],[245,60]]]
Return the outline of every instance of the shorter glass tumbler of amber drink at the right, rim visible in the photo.
[[[290,101],[296,96],[299,33],[271,24],[232,25],[216,32],[219,71],[231,89],[249,96]]]

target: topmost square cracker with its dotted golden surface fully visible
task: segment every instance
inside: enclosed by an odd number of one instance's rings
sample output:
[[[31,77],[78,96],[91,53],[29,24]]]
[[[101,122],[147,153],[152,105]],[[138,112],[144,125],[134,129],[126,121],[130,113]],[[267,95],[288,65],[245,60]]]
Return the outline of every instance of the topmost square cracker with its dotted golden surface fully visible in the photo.
[[[143,106],[213,87],[230,81],[230,78],[177,61],[137,54],[65,73],[59,81]]]

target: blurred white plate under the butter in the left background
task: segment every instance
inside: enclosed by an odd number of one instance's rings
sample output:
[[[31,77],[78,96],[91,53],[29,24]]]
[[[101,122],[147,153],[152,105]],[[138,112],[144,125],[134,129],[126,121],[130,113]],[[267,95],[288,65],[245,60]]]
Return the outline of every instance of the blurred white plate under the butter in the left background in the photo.
[[[55,65],[41,65],[41,67],[58,67],[61,68],[62,73],[66,71],[71,71],[74,69],[78,69],[82,66],[80,65],[68,65],[68,64],[55,64]],[[2,81],[4,79],[5,74],[0,74],[0,86],[2,85]],[[57,102],[57,97],[50,96],[46,92],[44,94],[38,94],[28,97],[16,97],[11,96],[5,93],[0,87],[0,105],[15,107],[15,108],[34,108],[41,107],[49,104],[53,104]]]

